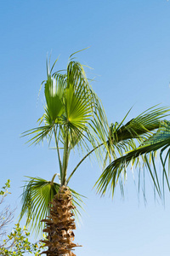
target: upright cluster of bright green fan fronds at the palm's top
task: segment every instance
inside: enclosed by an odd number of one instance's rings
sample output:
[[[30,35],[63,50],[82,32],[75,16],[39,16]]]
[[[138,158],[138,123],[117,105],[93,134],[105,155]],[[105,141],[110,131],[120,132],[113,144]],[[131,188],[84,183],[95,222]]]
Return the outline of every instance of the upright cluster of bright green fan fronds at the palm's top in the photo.
[[[32,136],[28,143],[39,143],[44,138],[51,143],[54,138],[61,183],[64,184],[71,149],[77,146],[88,153],[89,146],[96,148],[101,138],[105,143],[109,126],[105,109],[88,83],[81,63],[70,59],[65,73],[52,74],[53,68],[54,65],[50,70],[47,63],[47,79],[42,82],[45,113],[38,120],[40,125],[42,122],[44,125],[24,132],[23,137]],[[97,155],[101,157],[101,154]]]

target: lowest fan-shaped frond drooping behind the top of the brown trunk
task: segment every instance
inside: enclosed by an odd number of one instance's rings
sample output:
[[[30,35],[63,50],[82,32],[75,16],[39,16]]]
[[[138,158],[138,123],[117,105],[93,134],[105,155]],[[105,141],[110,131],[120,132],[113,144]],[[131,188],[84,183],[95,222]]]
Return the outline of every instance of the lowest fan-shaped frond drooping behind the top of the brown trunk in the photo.
[[[26,215],[26,225],[31,225],[31,230],[35,231],[36,235],[42,232],[43,223],[40,221],[46,218],[49,214],[50,202],[53,201],[54,195],[59,191],[60,184],[54,183],[54,179],[47,181],[41,177],[28,177],[24,186],[23,194],[21,195],[22,208],[20,219]],[[78,208],[82,208],[82,195],[71,189],[73,195],[73,204],[77,207],[74,214],[80,214]],[[83,208],[82,208],[83,209]]]

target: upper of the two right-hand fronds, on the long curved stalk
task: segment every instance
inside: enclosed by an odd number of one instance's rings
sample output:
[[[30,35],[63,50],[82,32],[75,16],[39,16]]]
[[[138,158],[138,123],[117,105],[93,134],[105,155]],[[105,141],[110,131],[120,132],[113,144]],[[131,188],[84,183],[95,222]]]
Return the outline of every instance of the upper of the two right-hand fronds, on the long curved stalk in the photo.
[[[109,128],[109,135],[106,153],[106,159],[111,163],[111,155],[114,160],[121,157],[127,151],[138,148],[139,143],[143,143],[160,127],[161,119],[169,115],[169,108],[156,108],[152,107],[139,114],[134,119],[123,125],[126,116],[122,119],[120,124],[111,124]],[[108,154],[108,152],[110,152]],[[106,164],[105,159],[105,164]]]

